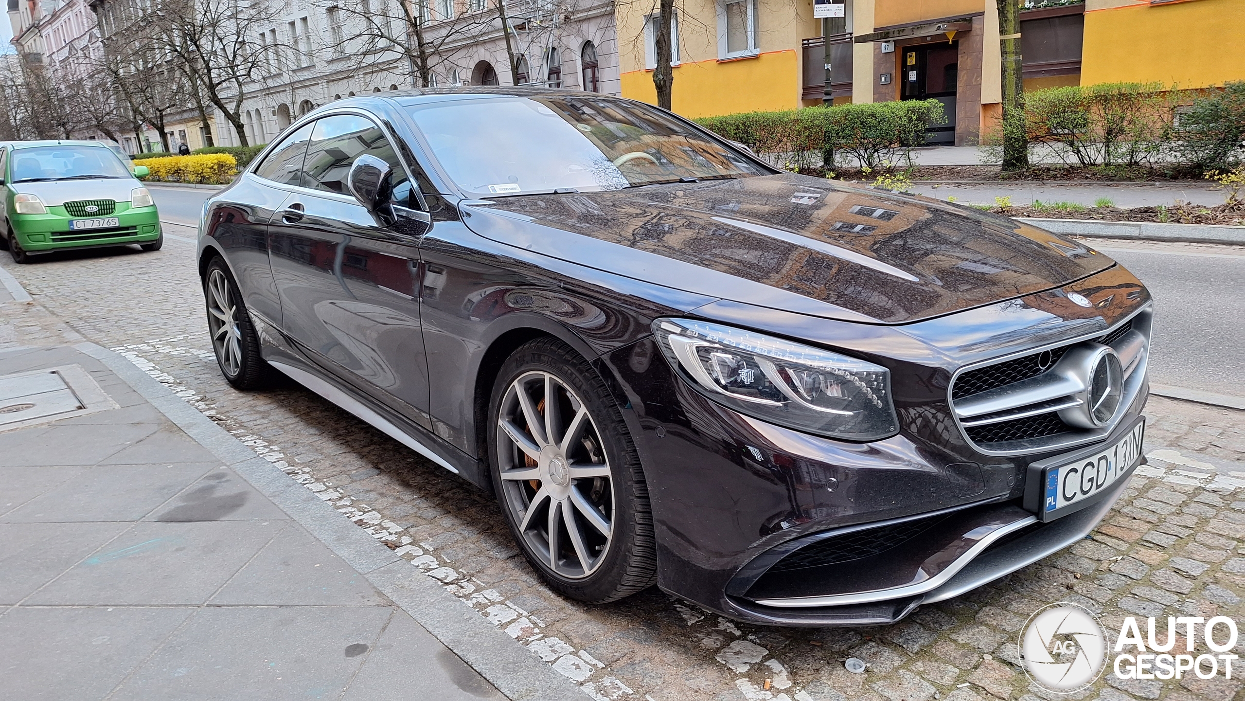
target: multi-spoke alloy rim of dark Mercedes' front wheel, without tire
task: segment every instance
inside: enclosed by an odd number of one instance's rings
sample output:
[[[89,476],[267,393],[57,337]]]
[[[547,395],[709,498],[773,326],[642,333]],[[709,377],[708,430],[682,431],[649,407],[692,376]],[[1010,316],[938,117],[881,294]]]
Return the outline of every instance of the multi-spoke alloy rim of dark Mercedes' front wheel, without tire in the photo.
[[[583,400],[557,375],[530,371],[507,388],[497,421],[503,499],[532,553],[559,576],[605,562],[614,482]]]

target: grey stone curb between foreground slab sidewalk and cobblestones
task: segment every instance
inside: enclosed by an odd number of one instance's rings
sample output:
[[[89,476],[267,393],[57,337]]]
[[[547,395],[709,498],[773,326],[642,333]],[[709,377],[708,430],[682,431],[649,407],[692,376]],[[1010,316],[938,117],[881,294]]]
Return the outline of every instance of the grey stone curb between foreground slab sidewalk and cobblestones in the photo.
[[[393,550],[350,523],[332,506],[290,479],[242,441],[174,396],[121,355],[100,345],[73,346],[112,370],[192,440],[220,458],[290,518],[359,570],[513,701],[583,701],[585,692],[540,661],[503,630],[442,589]]]

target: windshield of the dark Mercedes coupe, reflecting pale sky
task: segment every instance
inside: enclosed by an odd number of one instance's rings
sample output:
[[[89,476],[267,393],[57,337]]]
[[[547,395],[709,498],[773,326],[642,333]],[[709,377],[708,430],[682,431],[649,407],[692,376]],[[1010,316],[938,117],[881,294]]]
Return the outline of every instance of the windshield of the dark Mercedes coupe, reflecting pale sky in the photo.
[[[768,174],[679,120],[620,100],[466,98],[411,116],[454,183],[488,197]]]

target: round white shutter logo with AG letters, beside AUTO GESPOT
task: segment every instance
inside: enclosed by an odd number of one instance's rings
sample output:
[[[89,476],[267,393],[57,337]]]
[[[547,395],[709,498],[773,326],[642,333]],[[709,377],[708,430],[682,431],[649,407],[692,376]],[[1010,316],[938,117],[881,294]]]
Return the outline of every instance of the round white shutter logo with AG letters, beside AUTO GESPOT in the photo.
[[[1102,674],[1107,636],[1093,614],[1076,604],[1038,609],[1020,639],[1025,671],[1046,689],[1072,694]]]

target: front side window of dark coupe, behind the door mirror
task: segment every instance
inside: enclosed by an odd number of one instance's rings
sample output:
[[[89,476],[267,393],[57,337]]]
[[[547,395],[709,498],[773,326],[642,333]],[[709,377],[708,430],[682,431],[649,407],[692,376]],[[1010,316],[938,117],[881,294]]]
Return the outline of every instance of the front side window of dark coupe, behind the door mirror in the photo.
[[[350,188],[346,187],[350,167],[355,158],[365,153],[380,158],[393,169],[390,186],[395,194],[410,189],[401,187],[407,177],[393,153],[393,144],[371,120],[355,115],[334,115],[315,123],[311,146],[308,148],[306,187],[350,194]]]

